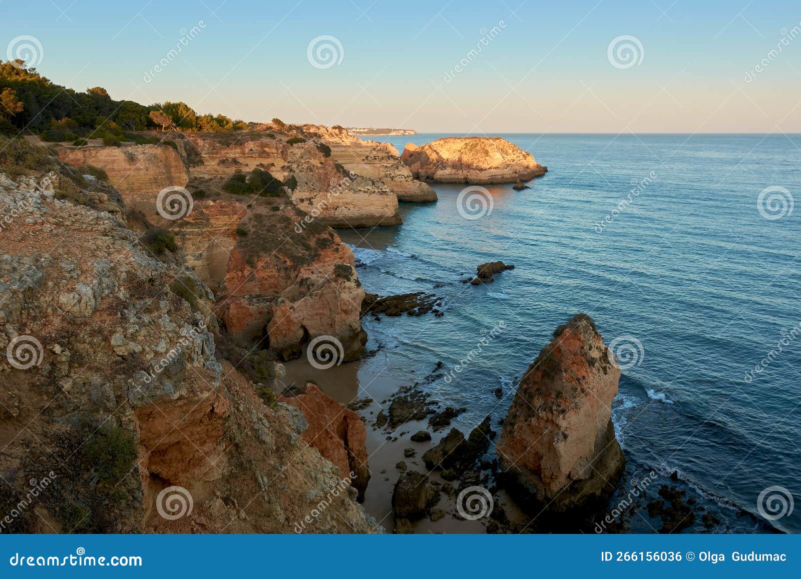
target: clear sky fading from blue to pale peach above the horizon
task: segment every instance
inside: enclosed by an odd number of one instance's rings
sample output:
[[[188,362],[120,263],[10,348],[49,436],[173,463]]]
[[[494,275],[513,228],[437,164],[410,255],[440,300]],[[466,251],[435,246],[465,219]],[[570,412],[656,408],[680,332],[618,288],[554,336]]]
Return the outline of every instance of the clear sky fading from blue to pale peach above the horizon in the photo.
[[[801,132],[798,0],[0,0],[0,58],[26,44],[75,90],[246,121]]]

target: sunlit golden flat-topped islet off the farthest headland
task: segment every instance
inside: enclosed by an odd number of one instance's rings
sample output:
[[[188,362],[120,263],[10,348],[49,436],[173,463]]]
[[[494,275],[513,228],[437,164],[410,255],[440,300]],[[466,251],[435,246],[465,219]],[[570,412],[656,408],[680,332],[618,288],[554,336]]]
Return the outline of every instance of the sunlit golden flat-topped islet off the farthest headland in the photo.
[[[416,179],[437,183],[515,183],[548,171],[501,137],[446,137],[420,147],[409,143],[400,160]]]

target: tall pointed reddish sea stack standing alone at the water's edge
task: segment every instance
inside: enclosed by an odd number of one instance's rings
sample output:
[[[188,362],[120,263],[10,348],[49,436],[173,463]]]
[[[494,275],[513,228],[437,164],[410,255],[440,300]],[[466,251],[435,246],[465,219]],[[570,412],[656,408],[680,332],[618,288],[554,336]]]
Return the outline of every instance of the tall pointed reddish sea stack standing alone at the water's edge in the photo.
[[[601,504],[625,466],[610,420],[614,355],[586,314],[554,336],[517,387],[496,446],[510,491],[535,514]]]

